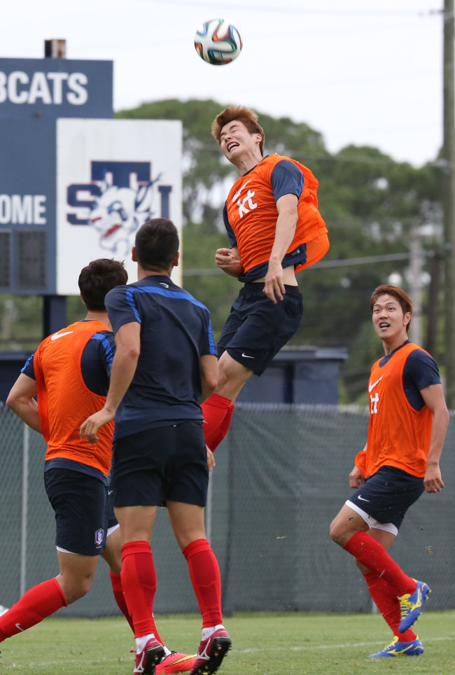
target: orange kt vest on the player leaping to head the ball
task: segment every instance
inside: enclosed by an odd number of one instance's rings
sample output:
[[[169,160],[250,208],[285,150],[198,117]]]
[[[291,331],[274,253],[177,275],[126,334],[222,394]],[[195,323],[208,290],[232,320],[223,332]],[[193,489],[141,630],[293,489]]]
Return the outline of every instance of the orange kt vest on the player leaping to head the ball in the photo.
[[[307,244],[307,261],[295,272],[314,265],[329,249],[327,228],[318,211],[316,192],[318,181],[312,172],[285,155],[269,155],[245,176],[240,176],[230,189],[226,200],[228,220],[237,239],[245,272],[266,263],[275,238],[278,211],[270,184],[272,171],[281,160],[293,162],[303,174],[302,194],[297,207],[295,236],[287,253],[300,244]]]

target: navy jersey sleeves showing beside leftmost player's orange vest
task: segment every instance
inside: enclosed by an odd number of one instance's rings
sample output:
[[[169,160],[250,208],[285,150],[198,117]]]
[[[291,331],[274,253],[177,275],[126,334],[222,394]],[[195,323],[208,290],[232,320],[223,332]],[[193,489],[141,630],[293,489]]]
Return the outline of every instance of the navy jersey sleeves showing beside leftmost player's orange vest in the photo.
[[[112,359],[116,349],[116,342],[111,330],[102,330],[94,333],[84,347],[80,370],[87,389],[99,396],[107,396],[109,377],[111,377]],[[33,354],[27,359],[24,368],[20,371],[36,380]]]

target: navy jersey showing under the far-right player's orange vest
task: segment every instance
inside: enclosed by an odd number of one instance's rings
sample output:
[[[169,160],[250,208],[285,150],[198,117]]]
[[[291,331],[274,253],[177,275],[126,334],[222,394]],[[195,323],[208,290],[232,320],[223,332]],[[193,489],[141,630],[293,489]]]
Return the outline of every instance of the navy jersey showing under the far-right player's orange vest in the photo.
[[[391,359],[393,354],[398,352],[398,349],[401,349],[408,343],[409,340],[406,340],[400,347],[393,349],[391,354],[383,356],[381,361],[379,361],[379,368],[384,366],[384,364]],[[436,361],[433,359],[433,356],[430,356],[428,352],[422,352],[421,349],[416,349],[407,357],[402,380],[406,398],[409,401],[409,405],[412,405],[414,410],[421,410],[423,405],[425,405],[425,401],[423,401],[423,397],[420,393],[421,389],[430,387],[430,384],[441,384]]]

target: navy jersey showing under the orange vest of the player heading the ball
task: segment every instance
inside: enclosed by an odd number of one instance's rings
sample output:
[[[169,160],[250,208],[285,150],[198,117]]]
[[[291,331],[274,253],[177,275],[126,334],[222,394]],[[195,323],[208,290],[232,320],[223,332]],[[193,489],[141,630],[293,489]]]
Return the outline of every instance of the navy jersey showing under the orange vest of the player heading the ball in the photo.
[[[253,171],[253,169],[251,169]],[[248,175],[249,172],[244,174]],[[272,193],[274,196],[275,202],[279,200],[280,197],[284,195],[295,195],[298,198],[302,194],[303,188],[303,174],[300,169],[289,160],[281,160],[274,167],[272,171],[272,176],[270,180],[270,185],[272,188]],[[278,216],[277,216],[278,217]],[[235,239],[235,234],[232,231],[232,227],[228,220],[228,210],[226,204],[223,208],[223,221],[225,224],[226,232],[228,232],[229,241],[232,246],[237,246],[237,241]],[[307,246],[305,244],[300,244],[300,246],[286,253],[286,256],[283,258],[282,265],[283,267],[289,267],[290,265],[302,264],[307,260]],[[256,265],[252,267],[251,270],[248,270],[246,274],[239,277],[239,281],[248,282],[255,281],[255,279],[261,279],[267,274],[269,263],[262,263],[261,265]]]

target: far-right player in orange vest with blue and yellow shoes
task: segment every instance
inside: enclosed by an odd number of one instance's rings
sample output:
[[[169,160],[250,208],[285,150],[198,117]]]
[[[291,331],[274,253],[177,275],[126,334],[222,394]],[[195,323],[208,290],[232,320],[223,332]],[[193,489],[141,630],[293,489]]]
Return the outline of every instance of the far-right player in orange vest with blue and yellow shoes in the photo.
[[[407,338],[409,295],[395,286],[378,286],[370,306],[385,356],[371,370],[367,444],[349,475],[356,492],[330,525],[330,536],[355,557],[393,632],[391,644],[370,657],[418,656],[423,646],[412,625],[430,588],[407,576],[387,550],[409,506],[425,490],[436,493],[444,487],[439,461],[449,412],[437,364]]]

